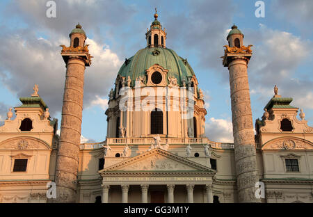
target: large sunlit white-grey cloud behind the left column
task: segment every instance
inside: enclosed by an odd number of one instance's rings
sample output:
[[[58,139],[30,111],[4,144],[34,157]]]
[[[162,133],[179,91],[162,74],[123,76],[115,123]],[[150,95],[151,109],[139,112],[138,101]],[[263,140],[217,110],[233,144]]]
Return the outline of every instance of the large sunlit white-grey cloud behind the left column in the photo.
[[[6,46],[0,47],[1,80],[17,97],[31,95],[33,85],[39,86],[39,95],[50,107],[52,115],[61,111],[65,82],[65,63],[60,55],[61,47],[70,39],[43,39],[35,33],[17,31],[15,35],[3,35]],[[122,61],[105,44],[88,39],[90,54],[95,56],[90,67],[86,68],[84,84],[84,105],[106,97]],[[9,76],[6,76],[6,72]],[[102,102],[104,105],[104,102]]]

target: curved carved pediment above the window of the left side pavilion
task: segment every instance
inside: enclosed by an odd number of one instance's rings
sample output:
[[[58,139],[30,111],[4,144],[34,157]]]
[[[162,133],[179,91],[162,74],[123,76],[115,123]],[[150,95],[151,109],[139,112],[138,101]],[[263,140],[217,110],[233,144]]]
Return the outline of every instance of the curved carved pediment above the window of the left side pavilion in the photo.
[[[51,147],[45,141],[32,137],[15,137],[0,143],[0,150],[49,150]]]

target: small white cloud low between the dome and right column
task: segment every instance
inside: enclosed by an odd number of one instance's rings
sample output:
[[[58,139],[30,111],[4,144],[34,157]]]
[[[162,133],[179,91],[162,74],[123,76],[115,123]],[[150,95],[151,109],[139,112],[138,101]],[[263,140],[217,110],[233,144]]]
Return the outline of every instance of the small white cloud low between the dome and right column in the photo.
[[[233,143],[232,122],[225,119],[210,118],[205,124],[206,136],[213,141]]]

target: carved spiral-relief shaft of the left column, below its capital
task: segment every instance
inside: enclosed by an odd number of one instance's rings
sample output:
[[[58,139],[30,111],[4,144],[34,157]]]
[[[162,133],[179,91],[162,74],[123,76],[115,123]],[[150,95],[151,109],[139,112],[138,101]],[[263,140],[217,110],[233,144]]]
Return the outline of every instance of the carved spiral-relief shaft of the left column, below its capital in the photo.
[[[78,56],[70,56],[66,67],[54,202],[76,202],[85,61]]]

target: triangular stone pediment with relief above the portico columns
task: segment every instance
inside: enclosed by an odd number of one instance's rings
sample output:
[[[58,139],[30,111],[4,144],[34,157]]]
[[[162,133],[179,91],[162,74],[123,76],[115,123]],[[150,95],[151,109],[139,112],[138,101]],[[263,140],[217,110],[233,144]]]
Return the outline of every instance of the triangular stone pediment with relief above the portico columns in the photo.
[[[207,166],[159,148],[139,154],[126,161],[116,163],[113,166],[108,166],[99,172],[110,171],[215,172],[215,170]]]

